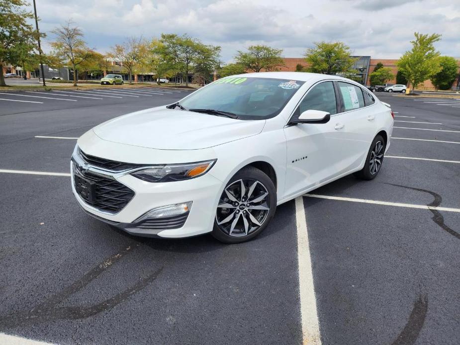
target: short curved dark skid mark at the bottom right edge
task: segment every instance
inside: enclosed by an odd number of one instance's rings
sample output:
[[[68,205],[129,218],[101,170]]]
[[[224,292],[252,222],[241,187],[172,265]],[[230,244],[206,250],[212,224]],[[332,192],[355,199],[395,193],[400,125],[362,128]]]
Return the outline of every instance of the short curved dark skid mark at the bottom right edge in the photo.
[[[418,294],[406,325],[391,345],[415,344],[428,312],[428,296]]]

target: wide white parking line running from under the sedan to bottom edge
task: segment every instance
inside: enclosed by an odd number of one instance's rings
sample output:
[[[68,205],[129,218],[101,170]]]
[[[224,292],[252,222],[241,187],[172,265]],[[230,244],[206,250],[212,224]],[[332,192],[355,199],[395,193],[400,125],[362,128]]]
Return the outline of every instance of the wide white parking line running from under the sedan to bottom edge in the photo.
[[[297,258],[299,264],[300,317],[302,344],[321,344],[318,313],[316,310],[310,244],[308,243],[305,208],[301,196],[295,198],[295,221],[297,226]]]

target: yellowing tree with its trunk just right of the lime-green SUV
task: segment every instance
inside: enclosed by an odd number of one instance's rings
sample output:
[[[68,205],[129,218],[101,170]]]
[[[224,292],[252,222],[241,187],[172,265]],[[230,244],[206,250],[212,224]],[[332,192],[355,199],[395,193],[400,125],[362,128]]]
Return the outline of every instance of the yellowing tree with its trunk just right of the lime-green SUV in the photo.
[[[123,69],[128,73],[129,84],[132,84],[132,75],[142,69],[147,50],[147,43],[142,37],[129,37],[122,44],[112,47],[108,55],[121,62]]]

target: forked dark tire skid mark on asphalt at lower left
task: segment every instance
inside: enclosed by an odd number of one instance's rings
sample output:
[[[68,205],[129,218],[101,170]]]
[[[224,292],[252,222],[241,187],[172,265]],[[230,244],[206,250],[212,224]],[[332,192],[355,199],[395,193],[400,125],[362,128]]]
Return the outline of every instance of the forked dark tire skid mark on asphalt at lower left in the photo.
[[[122,259],[126,254],[129,254],[133,249],[139,246],[139,243],[131,242],[128,247],[97,264],[90,271],[85,273],[83,277],[74,281],[74,283],[64,288],[64,290],[48,298],[45,302],[39,304],[31,310],[13,312],[7,316],[2,316],[0,318],[0,327],[2,329],[16,328],[24,325],[37,324],[54,320],[85,319],[100,312],[108,311],[116,305],[126,301],[131,295],[139,292],[151,282],[153,282],[161,273],[163,267],[160,267],[146,277],[140,278],[135,284],[102,302],[95,303],[90,306],[58,307],[58,304],[85,288],[101,273],[106,271],[108,268],[113,266],[114,263]]]

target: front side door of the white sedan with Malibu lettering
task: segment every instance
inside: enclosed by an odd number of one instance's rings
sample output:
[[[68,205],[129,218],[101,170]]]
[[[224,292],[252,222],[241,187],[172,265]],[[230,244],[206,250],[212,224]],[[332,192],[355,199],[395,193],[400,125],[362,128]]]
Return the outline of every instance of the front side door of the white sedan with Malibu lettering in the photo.
[[[332,81],[312,86],[299,102],[292,118],[296,119],[305,110],[322,110],[331,114],[327,123],[288,124],[284,128],[286,137],[286,183],[285,196],[330,179],[342,170],[344,136],[340,132],[340,103]]]

